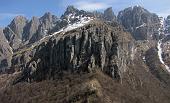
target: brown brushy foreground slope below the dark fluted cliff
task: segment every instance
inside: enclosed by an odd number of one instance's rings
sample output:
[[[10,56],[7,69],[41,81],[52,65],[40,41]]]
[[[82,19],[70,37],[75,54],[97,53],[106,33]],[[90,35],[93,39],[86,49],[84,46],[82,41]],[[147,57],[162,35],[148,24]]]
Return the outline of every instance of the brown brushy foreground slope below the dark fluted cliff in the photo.
[[[99,71],[81,75],[67,74],[61,80],[19,83],[1,90],[0,101],[2,103],[168,103],[170,101],[154,77],[146,73],[144,75],[146,77],[143,78],[143,74],[131,70],[133,73],[127,72],[122,84]],[[143,70],[141,72],[145,73]]]

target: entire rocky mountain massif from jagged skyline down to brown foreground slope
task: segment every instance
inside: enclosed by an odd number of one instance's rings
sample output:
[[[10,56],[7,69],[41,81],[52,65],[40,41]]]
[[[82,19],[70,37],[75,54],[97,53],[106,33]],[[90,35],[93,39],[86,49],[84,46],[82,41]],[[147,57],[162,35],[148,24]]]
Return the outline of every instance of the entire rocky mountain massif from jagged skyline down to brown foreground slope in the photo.
[[[141,6],[17,16],[0,32],[0,101],[169,103],[167,20]]]

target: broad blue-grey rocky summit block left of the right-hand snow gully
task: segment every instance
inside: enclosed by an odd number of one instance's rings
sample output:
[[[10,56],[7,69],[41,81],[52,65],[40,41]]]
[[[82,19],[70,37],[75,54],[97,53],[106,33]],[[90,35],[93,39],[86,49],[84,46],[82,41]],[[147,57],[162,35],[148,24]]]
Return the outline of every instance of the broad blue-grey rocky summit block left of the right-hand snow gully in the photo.
[[[135,6],[120,11],[118,21],[136,40],[156,39],[160,26],[159,17],[146,9]]]

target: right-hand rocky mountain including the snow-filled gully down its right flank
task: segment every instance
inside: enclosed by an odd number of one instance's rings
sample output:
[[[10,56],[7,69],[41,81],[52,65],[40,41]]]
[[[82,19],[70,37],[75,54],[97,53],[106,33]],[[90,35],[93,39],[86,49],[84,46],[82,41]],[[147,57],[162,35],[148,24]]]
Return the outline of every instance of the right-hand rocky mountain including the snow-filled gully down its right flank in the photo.
[[[141,55],[150,72],[169,85],[169,63],[165,60],[169,55],[168,45],[162,43],[168,38],[168,18],[164,21],[155,13],[150,13],[141,6],[134,6],[120,11],[118,21],[136,40],[140,48],[138,55]]]

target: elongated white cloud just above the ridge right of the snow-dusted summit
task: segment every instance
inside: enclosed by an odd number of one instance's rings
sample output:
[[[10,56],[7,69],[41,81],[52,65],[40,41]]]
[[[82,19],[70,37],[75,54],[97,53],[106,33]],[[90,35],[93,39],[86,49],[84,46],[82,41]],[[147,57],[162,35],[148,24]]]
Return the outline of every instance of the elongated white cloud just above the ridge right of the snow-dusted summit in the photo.
[[[81,10],[94,11],[105,9],[110,5],[104,2],[79,1],[74,6]]]

